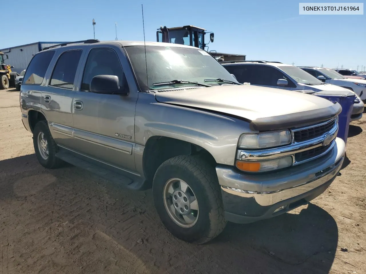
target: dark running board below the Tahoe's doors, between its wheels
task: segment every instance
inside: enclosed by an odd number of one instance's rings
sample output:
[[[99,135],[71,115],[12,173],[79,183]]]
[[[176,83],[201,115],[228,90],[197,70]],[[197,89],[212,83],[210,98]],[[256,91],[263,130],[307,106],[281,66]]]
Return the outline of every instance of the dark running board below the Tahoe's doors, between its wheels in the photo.
[[[65,149],[60,149],[59,152],[56,153],[56,157],[69,163],[75,165],[76,167],[80,167],[84,170],[90,171],[101,178],[108,180],[112,183],[116,183],[119,185],[127,186],[128,188],[134,189],[134,187],[129,186],[134,181],[124,175],[122,175],[118,171],[112,171],[108,168],[104,168],[101,165],[90,163],[89,161],[83,160],[81,157],[76,157],[71,154],[71,152],[66,151]]]

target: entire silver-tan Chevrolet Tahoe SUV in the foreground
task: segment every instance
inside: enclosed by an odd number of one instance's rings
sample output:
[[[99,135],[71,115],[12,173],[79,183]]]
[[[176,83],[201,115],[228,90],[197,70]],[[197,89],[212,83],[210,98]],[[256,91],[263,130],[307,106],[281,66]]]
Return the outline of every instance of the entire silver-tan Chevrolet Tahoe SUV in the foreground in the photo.
[[[26,70],[20,108],[41,165],[66,161],[127,189],[152,188],[165,227],[194,243],[227,221],[306,204],[345,153],[338,103],[239,84],[209,53],[171,43],[45,49]]]

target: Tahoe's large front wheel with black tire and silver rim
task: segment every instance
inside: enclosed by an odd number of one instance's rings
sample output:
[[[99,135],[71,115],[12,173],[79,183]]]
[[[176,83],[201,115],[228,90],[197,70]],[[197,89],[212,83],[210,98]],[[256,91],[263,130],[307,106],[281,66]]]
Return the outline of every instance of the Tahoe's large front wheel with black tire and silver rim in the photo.
[[[198,156],[176,156],[161,164],[153,196],[164,226],[181,240],[206,243],[226,226],[215,169]]]

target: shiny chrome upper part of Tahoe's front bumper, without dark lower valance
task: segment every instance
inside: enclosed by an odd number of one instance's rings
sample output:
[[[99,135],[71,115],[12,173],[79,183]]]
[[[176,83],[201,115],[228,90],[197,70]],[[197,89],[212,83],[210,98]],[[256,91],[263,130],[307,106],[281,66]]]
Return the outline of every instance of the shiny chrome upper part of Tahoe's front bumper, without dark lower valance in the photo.
[[[306,193],[334,178],[342,166],[345,150],[344,141],[336,138],[325,160],[314,160],[270,174],[243,174],[224,166],[216,167],[216,173],[223,191],[268,206]]]

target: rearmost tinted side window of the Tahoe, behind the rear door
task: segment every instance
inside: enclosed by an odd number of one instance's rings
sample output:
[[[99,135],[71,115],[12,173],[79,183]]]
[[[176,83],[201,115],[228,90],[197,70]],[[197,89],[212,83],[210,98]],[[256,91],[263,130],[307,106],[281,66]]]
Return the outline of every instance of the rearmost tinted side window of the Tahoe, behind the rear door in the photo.
[[[52,60],[55,51],[41,52],[36,54],[30,61],[24,76],[23,84],[40,85],[45,77],[49,63]]]

